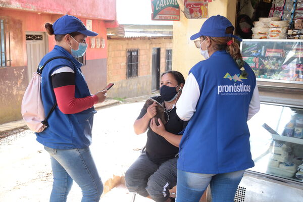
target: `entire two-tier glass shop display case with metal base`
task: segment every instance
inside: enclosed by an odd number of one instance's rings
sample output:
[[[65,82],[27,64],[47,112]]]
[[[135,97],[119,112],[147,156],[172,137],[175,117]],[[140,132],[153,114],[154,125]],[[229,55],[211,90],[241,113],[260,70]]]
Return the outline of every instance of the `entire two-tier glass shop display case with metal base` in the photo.
[[[255,167],[239,185],[245,202],[303,201],[303,40],[244,39],[240,48],[262,103],[247,122]]]

